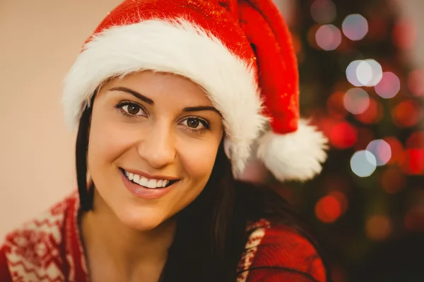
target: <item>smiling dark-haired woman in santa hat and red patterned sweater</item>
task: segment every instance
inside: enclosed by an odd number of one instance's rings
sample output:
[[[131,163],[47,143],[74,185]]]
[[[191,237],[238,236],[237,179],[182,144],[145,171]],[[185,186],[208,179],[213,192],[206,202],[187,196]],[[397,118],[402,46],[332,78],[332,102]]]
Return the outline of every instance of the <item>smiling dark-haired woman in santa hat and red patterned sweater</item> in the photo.
[[[0,281],[326,281],[288,204],[236,180],[254,142],[279,180],[326,158],[271,0],[124,1],[84,45],[64,106],[78,195],[6,237]]]

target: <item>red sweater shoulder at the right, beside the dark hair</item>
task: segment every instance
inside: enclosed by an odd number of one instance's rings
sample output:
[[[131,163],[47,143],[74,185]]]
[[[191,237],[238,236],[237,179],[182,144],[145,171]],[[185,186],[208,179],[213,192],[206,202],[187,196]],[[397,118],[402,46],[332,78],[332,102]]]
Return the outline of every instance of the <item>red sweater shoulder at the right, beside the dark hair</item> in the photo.
[[[317,250],[307,238],[280,223],[250,223],[237,282],[326,281]]]

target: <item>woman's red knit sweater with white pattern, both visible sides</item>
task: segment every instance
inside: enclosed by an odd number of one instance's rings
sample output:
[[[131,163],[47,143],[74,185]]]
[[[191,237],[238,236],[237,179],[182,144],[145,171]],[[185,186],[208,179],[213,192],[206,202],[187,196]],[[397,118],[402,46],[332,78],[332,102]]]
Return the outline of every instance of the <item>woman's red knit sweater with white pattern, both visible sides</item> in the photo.
[[[0,247],[1,282],[88,282],[78,234],[77,195],[9,233]],[[237,282],[325,281],[314,247],[284,226],[265,219],[249,226]]]

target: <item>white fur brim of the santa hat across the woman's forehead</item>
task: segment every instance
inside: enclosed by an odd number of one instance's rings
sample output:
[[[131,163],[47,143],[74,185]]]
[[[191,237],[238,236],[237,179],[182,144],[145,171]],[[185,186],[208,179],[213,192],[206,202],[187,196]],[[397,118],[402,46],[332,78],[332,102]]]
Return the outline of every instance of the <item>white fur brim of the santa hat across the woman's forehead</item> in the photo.
[[[240,174],[266,123],[252,65],[187,20],[111,27],[84,47],[65,80],[66,121],[75,127],[96,88],[136,71],[175,73],[201,85],[223,114],[233,171]]]

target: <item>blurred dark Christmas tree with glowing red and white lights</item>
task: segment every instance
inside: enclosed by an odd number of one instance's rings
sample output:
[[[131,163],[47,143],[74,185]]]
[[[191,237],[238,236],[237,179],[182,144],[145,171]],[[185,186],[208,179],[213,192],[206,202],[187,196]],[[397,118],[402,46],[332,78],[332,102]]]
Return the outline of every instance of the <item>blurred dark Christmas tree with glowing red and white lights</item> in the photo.
[[[412,261],[384,250],[424,231],[424,71],[406,56],[413,26],[390,0],[293,3],[302,114],[331,150],[321,176],[278,190],[314,226],[335,281],[416,281],[380,280],[403,270],[376,264]]]

